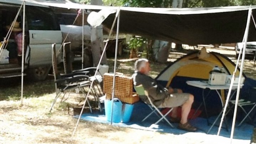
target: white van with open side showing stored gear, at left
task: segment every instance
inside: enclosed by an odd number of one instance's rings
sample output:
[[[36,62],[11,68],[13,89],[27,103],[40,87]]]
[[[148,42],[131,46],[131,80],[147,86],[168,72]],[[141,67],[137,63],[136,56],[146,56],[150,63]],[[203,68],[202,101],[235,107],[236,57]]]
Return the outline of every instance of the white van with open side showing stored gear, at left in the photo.
[[[19,8],[20,0],[0,0],[0,41],[4,40],[7,26],[14,20]],[[35,81],[44,80],[52,65],[51,45],[56,43],[60,48],[62,33],[58,19],[48,6],[26,4],[25,21],[25,65],[24,72]],[[22,10],[17,22],[22,28]],[[14,33],[14,32],[13,32]],[[17,55],[17,43],[14,34],[11,35],[7,49],[0,58],[0,78],[21,75],[21,57]]]

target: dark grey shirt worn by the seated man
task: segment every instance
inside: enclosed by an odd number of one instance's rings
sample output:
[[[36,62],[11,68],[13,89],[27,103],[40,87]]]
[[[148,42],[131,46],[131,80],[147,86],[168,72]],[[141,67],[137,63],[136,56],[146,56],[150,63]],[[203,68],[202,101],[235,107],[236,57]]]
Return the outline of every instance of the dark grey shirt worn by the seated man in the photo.
[[[168,90],[162,85],[158,84],[155,79],[139,72],[133,74],[133,84],[135,86],[142,84],[155,106],[159,106],[164,101],[164,98],[168,97],[169,95]],[[142,101],[149,104],[147,96],[139,97]]]

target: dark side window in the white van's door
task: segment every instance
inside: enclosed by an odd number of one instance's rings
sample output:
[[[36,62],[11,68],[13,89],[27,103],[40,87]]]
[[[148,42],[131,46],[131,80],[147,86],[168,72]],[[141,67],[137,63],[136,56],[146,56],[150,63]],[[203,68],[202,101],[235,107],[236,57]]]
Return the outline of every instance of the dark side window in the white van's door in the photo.
[[[26,9],[29,30],[60,30],[49,8],[29,6]]]

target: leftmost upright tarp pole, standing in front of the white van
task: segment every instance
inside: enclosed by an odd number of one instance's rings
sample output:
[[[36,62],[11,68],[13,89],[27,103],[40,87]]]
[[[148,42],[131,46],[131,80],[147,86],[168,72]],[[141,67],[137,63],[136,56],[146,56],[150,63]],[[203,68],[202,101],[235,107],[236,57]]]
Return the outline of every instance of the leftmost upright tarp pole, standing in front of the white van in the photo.
[[[24,47],[25,47],[25,0],[23,0],[22,19],[22,56],[21,56],[21,106],[23,105],[23,83],[24,83]]]

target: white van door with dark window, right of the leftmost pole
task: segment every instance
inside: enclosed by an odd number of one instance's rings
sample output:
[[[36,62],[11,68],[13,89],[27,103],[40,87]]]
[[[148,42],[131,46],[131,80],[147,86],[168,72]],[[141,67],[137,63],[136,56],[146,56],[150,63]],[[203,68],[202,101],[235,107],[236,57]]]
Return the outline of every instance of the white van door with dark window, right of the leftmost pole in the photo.
[[[26,8],[29,29],[30,67],[51,65],[51,45],[59,48],[62,42],[60,26],[52,10],[47,7]]]

